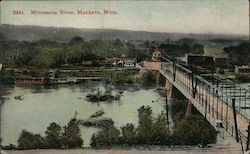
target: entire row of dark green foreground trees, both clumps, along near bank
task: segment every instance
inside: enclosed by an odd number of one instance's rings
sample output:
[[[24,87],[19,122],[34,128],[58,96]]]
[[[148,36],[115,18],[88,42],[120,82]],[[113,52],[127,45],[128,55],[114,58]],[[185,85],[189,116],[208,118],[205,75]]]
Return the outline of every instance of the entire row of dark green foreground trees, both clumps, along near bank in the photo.
[[[81,148],[84,142],[80,126],[80,120],[73,118],[63,128],[55,122],[51,123],[44,137],[23,130],[16,148],[21,150]],[[100,130],[92,135],[90,143],[95,149],[198,144],[205,147],[216,140],[216,131],[204,117],[198,115],[186,117],[178,122],[171,132],[166,113],[162,112],[154,117],[150,106],[141,106],[138,109],[137,126],[128,123],[119,129],[112,120],[108,122],[104,120],[98,126]],[[15,149],[15,146],[6,146],[5,149]]]

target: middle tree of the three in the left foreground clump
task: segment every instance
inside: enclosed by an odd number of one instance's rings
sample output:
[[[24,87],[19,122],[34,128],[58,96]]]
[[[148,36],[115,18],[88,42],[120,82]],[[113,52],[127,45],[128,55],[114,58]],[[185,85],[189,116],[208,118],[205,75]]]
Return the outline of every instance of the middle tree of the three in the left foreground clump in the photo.
[[[45,147],[48,149],[59,149],[62,147],[62,128],[55,122],[51,123],[45,132]]]

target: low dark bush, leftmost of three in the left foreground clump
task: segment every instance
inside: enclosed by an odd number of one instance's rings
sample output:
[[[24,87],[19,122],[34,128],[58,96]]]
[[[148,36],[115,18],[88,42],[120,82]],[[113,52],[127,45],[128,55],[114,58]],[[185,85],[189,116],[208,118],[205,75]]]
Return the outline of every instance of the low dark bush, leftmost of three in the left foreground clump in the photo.
[[[18,140],[18,149],[41,149],[43,148],[43,138],[40,134],[32,134],[23,130]]]

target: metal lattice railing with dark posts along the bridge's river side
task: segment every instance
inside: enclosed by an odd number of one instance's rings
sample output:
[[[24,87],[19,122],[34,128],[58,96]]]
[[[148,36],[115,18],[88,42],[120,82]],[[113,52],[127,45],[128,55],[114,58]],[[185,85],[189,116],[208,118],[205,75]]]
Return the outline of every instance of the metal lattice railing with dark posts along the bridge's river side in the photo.
[[[205,116],[210,115],[214,119],[220,120],[223,127],[232,136],[236,136],[235,129],[239,130],[239,135],[243,140],[247,140],[246,126],[241,126],[244,123],[242,119],[250,119],[244,115],[239,109],[240,104],[235,104],[236,113],[241,118],[237,118],[239,122],[238,128],[234,124],[233,112],[233,98],[223,92],[223,90],[213,83],[208,82],[203,77],[194,74],[189,69],[175,64],[173,61],[167,61],[162,63],[161,70],[171,77],[174,82],[180,85],[188,95],[199,103],[199,105],[205,110],[203,113]]]

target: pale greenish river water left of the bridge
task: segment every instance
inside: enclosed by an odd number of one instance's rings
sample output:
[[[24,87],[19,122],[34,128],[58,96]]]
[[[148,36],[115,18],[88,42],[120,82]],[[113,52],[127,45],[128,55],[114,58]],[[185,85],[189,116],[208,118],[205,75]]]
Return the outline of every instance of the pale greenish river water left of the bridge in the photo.
[[[116,89],[122,91],[119,101],[112,103],[91,103],[85,100],[93,89]],[[46,127],[51,122],[61,126],[74,117],[87,119],[97,111],[104,111],[103,117],[111,118],[116,127],[126,123],[137,125],[137,109],[149,105],[153,115],[165,111],[165,98],[155,89],[143,89],[138,85],[122,85],[113,87],[104,82],[86,82],[78,85],[63,85],[56,87],[4,87],[4,102],[1,106],[1,138],[2,145],[17,144],[19,134],[23,129],[32,133],[44,135]],[[14,97],[21,95],[23,100]],[[93,133],[97,128],[81,126],[81,136],[84,147],[88,147]]]

